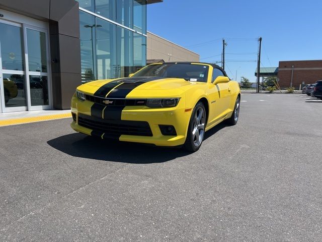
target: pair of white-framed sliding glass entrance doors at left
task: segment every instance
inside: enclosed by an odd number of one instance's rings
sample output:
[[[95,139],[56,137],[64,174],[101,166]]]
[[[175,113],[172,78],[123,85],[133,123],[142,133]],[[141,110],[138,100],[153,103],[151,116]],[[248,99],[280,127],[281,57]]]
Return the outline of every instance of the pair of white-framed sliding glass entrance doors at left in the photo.
[[[0,111],[51,108],[46,29],[0,22]]]

